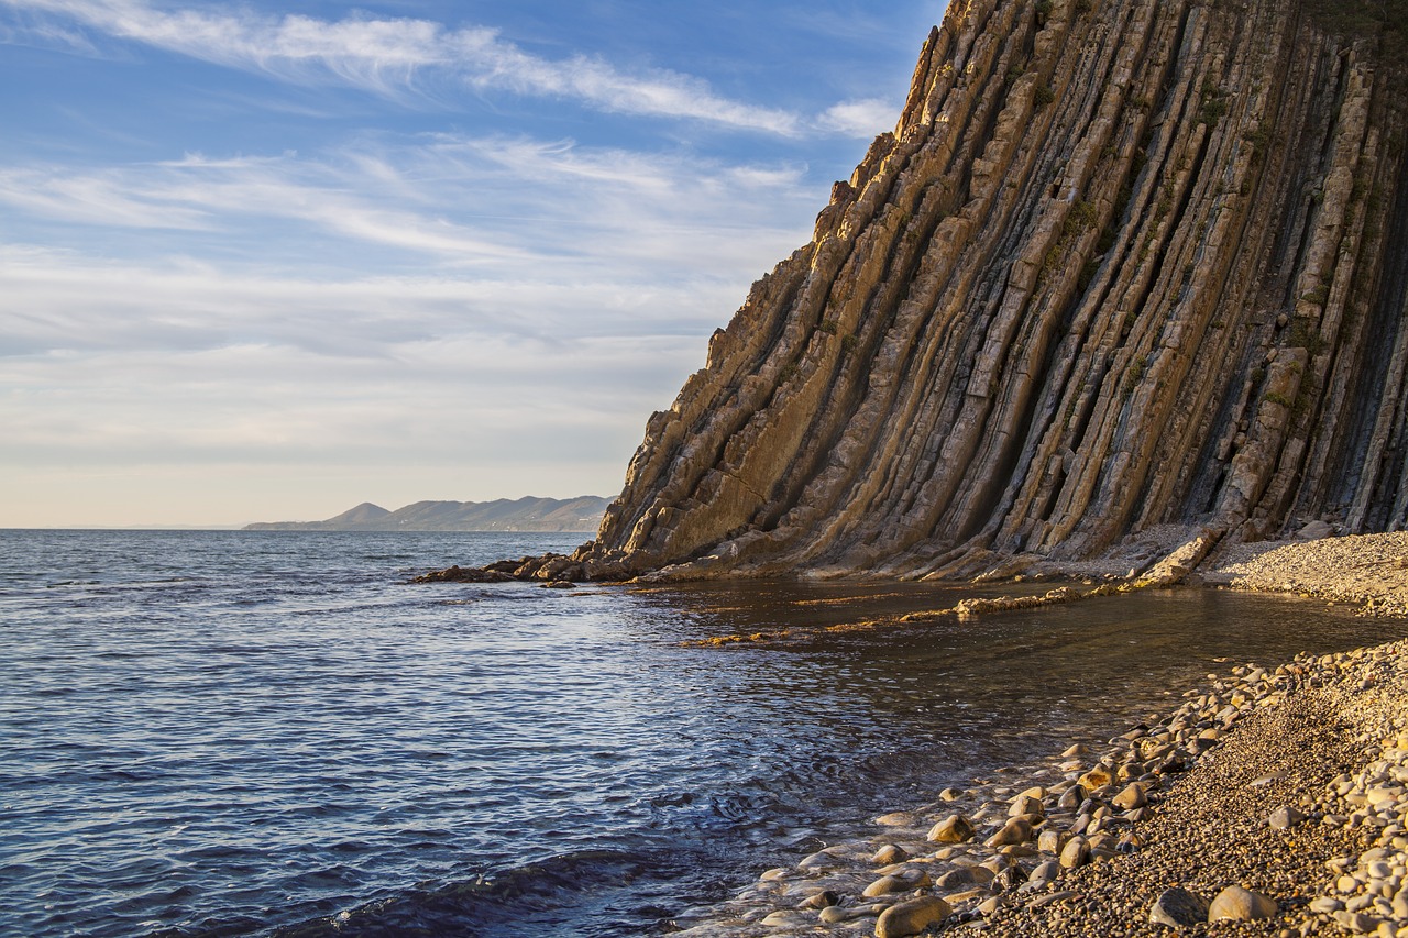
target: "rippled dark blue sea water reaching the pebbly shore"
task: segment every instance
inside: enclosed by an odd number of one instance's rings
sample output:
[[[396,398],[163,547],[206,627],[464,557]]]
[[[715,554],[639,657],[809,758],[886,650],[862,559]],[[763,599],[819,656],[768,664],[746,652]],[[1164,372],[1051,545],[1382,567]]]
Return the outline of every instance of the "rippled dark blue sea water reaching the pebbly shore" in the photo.
[[[1218,659],[1404,631],[1218,592],[848,631],[972,592],[408,583],[579,539],[0,531],[0,934],[665,934]]]

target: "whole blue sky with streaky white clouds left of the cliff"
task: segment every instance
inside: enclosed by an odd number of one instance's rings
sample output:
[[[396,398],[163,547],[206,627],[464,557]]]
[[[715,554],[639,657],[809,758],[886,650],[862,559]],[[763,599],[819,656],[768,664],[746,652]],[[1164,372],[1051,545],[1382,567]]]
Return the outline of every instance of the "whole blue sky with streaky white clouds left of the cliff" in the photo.
[[[0,0],[0,527],[614,496],[942,0]]]

